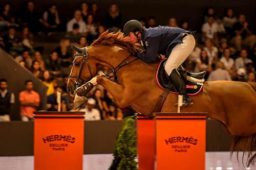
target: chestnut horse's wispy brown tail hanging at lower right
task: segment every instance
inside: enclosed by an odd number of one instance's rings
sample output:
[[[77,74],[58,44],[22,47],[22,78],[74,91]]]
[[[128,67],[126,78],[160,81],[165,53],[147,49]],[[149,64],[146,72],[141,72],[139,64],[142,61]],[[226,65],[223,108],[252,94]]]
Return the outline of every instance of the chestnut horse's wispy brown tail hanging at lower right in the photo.
[[[256,133],[249,136],[234,136],[231,144],[231,154],[237,151],[237,159],[239,151],[243,151],[242,162],[244,164],[244,155],[247,155],[246,165],[254,165],[256,163]]]

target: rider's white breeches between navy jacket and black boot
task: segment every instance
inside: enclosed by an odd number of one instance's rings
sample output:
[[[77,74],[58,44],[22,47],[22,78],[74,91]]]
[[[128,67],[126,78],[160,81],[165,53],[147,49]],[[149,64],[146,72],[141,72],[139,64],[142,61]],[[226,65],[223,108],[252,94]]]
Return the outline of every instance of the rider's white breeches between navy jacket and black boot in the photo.
[[[165,63],[164,69],[168,76],[173,69],[177,69],[186,60],[195,47],[195,38],[192,34],[185,36],[182,41],[183,43],[179,43],[173,48]]]

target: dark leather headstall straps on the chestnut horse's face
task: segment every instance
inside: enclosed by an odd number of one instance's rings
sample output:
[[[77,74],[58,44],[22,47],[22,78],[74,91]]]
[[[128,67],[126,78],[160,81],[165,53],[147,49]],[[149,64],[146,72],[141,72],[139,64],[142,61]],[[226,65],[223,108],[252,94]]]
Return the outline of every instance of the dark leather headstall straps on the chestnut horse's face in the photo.
[[[75,61],[76,59],[78,58],[82,58],[82,63],[81,63],[81,67],[80,67],[80,70],[78,72],[78,75],[77,76],[69,76],[69,78],[76,78],[76,81],[75,81],[75,86],[76,88],[78,88],[79,86],[83,85],[84,83],[88,82],[89,80],[91,80],[93,78],[93,75],[92,75],[92,71],[91,71],[91,68],[90,68],[90,64],[88,62],[88,49],[87,47],[84,47],[83,48],[83,52],[82,53],[76,53],[75,56],[74,56],[74,61],[73,61],[73,65],[75,64]],[[87,67],[88,67],[88,70],[90,72],[90,75],[91,77],[88,78],[87,80],[83,80],[81,78],[81,74],[82,74],[82,70],[83,70],[83,65],[84,63],[86,63]],[[81,82],[79,83],[79,79],[81,80]],[[70,79],[71,80],[71,79]]]

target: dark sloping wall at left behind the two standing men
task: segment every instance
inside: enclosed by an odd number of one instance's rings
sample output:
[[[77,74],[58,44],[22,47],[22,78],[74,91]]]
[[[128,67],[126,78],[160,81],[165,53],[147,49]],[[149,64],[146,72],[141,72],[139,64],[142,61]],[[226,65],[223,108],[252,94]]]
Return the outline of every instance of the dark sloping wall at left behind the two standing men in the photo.
[[[11,120],[20,120],[20,103],[19,92],[25,89],[26,80],[32,80],[34,90],[40,95],[40,106],[38,110],[46,109],[46,89],[42,82],[34,77],[31,72],[20,66],[12,56],[7,54],[0,48],[0,79],[4,78],[8,81],[8,89],[15,95],[15,104],[12,106],[10,113]]]

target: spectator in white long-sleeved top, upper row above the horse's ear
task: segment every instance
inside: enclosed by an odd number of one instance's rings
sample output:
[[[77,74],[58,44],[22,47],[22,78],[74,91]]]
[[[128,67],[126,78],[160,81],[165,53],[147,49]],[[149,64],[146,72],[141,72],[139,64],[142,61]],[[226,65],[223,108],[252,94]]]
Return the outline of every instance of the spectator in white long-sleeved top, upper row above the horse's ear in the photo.
[[[74,13],[74,18],[67,23],[67,32],[72,31],[74,23],[79,25],[79,33],[87,33],[86,22],[82,20],[82,13],[80,10],[76,10]]]

